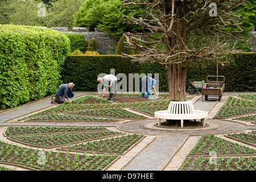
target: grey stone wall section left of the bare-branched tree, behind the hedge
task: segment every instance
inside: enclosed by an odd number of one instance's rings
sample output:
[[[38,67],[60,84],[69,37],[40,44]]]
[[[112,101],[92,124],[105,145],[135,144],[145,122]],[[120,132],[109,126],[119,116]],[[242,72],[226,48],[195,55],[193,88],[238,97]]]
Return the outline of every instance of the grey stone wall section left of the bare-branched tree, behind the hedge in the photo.
[[[51,27],[53,30],[69,33],[81,34],[83,38],[89,42],[90,39],[96,40],[96,51],[103,55],[115,54],[115,49],[119,42],[119,38],[113,38],[107,32],[101,31],[98,27],[94,31],[89,31],[89,27],[74,27],[73,31],[69,31],[67,27]]]

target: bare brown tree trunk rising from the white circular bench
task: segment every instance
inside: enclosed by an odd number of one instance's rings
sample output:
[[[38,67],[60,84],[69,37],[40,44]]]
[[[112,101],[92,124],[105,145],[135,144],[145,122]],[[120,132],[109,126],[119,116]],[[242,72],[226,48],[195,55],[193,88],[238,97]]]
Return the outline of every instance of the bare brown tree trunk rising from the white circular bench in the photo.
[[[167,64],[167,78],[171,101],[186,101],[186,65]]]

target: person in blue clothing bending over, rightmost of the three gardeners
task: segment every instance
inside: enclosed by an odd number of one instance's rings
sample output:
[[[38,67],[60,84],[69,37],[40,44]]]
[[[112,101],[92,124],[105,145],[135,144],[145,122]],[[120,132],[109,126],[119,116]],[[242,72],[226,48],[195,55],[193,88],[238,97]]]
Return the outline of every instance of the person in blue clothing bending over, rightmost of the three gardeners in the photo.
[[[139,87],[142,88],[141,97],[145,97],[145,92],[147,91],[147,98],[151,98],[151,86],[153,89],[155,89],[155,83],[156,81],[153,78],[143,76],[139,82]]]

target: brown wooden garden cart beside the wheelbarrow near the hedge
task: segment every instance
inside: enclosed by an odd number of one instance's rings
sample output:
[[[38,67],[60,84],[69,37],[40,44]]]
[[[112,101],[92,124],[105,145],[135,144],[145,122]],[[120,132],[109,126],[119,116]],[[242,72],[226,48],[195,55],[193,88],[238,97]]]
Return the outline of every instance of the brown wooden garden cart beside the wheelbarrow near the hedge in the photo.
[[[209,81],[209,77],[216,77],[217,81]],[[223,81],[218,81],[218,78],[223,78]],[[207,81],[205,86],[203,86],[202,90],[202,100],[203,96],[205,96],[205,100],[208,100],[208,97],[218,97],[218,100],[221,100],[223,95],[223,91],[225,88],[225,77],[224,76],[207,76]]]

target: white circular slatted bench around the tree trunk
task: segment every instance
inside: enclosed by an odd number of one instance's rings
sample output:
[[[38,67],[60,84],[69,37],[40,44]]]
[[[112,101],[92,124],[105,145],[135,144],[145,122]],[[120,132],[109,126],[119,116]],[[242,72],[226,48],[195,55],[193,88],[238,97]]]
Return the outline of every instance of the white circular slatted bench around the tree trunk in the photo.
[[[158,126],[161,125],[161,119],[181,120],[181,127],[183,127],[184,120],[201,119],[203,126],[205,126],[208,112],[195,110],[191,101],[171,101],[168,110],[155,111],[154,116],[157,118]]]

